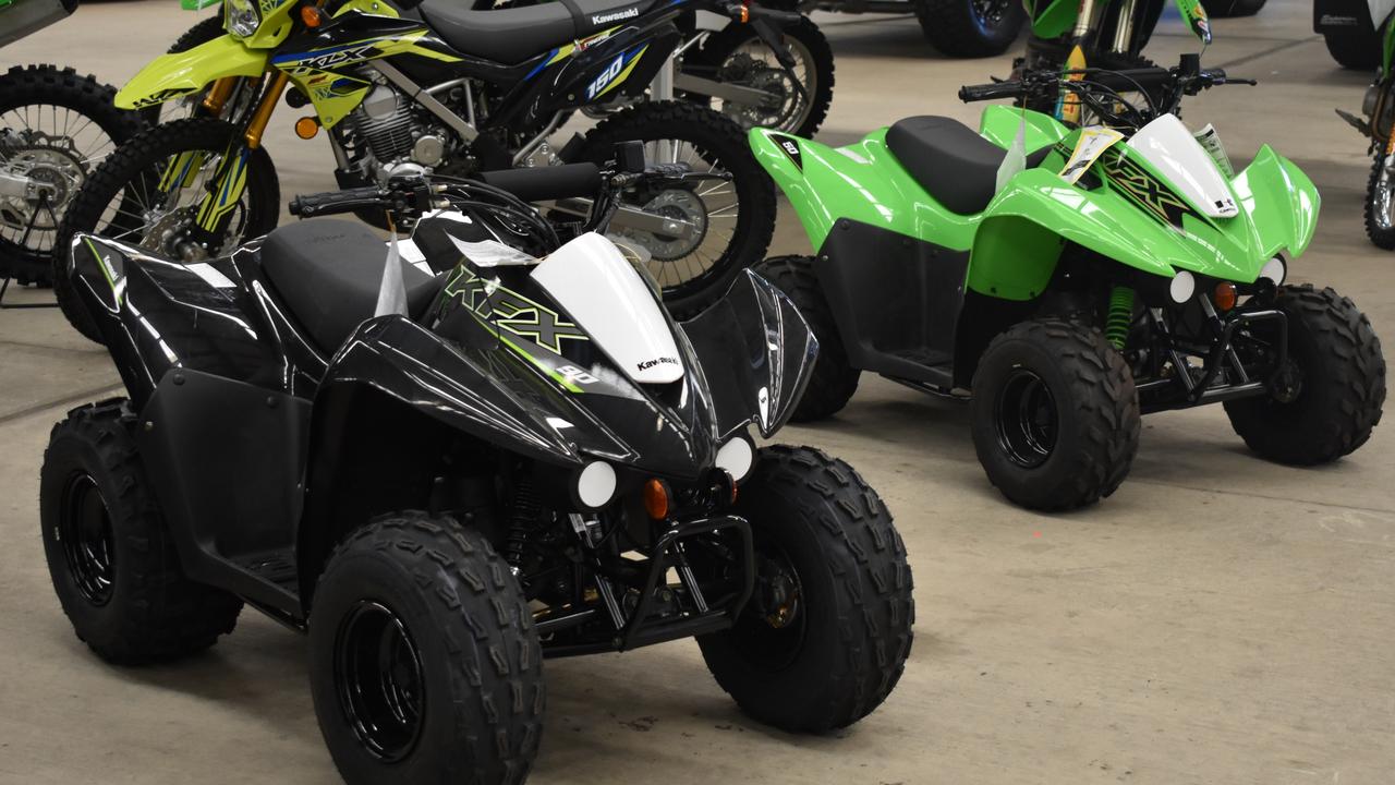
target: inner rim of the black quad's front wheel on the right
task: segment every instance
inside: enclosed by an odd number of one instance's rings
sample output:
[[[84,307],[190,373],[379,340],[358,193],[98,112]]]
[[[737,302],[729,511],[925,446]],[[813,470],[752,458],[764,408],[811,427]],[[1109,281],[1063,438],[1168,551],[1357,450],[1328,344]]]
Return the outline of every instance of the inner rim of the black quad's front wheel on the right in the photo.
[[[755,595],[734,630],[737,645],[748,661],[771,672],[784,670],[804,648],[808,598],[783,549],[757,543],[756,570]]]

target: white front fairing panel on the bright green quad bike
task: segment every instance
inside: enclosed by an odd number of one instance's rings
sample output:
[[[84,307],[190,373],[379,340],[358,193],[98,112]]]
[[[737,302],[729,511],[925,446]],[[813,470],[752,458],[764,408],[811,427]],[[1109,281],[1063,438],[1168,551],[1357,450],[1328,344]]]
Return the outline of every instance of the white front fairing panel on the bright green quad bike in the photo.
[[[1216,162],[1176,115],[1162,115],[1138,130],[1129,147],[1211,218],[1233,218],[1239,208]]]

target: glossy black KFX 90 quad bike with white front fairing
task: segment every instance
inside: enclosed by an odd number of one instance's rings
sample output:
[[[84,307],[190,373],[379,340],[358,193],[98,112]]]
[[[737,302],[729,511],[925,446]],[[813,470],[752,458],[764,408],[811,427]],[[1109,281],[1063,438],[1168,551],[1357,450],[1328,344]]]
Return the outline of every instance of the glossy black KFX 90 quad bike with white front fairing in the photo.
[[[598,179],[604,211],[692,177],[597,172],[494,182],[536,198]],[[293,203],[385,208],[425,215],[414,264],[385,267],[345,221],[199,264],[74,239],[73,288],[127,386],[45,454],[43,542],[78,637],[135,665],[205,650],[243,603],[307,630],[352,784],[522,782],[547,656],[696,637],[762,722],[875,710],[911,647],[901,538],[843,461],[748,436],[781,427],[816,356],[790,300],[742,272],[675,323],[642,251],[594,232],[558,247],[481,183]]]

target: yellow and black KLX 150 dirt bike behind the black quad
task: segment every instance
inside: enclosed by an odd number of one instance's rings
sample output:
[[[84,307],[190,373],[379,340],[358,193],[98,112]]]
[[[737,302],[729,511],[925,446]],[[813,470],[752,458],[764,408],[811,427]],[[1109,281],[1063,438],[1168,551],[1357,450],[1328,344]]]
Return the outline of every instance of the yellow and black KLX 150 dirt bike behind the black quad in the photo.
[[[646,247],[664,296],[695,313],[764,251],[774,189],[739,129],[706,108],[650,102],[618,112],[561,151],[550,138],[587,105],[638,95],[665,67],[688,3],[578,0],[474,11],[455,0],[225,4],[227,35],[151,63],[117,95],[144,109],[202,95],[204,116],[138,137],[92,177],[64,221],[186,261],[218,256],[276,225],[276,169],[262,147],[272,112],[304,110],[297,134],[326,131],[345,187],[393,176],[603,161],[615,142],[653,162],[732,177],[625,194],[612,226]],[[720,7],[738,18],[769,13]],[[585,215],[585,200],[551,214]],[[381,214],[365,215],[382,222]],[[59,288],[74,324],[91,320]]]

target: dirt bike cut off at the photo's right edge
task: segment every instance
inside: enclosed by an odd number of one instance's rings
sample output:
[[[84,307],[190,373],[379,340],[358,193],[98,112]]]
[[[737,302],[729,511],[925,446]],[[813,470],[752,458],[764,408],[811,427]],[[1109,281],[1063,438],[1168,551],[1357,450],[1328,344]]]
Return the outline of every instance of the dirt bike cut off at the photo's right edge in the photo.
[[[1392,8],[1395,8],[1395,1],[1371,3],[1371,20],[1377,18],[1375,14],[1382,14],[1380,17],[1382,20],[1387,18]],[[1384,31],[1384,43],[1368,49],[1368,52],[1380,56],[1375,63],[1380,70],[1371,87],[1366,88],[1362,116],[1357,117],[1341,109],[1336,113],[1370,140],[1367,152],[1374,161],[1371,162],[1370,180],[1366,184],[1366,236],[1377,247],[1395,250],[1395,134],[1391,133],[1392,126],[1395,126],[1395,74],[1391,73],[1391,60],[1395,56],[1395,25],[1387,22],[1378,27]],[[1345,42],[1342,46],[1353,57],[1363,52],[1356,42]],[[1332,38],[1328,38],[1328,47],[1332,47]]]

